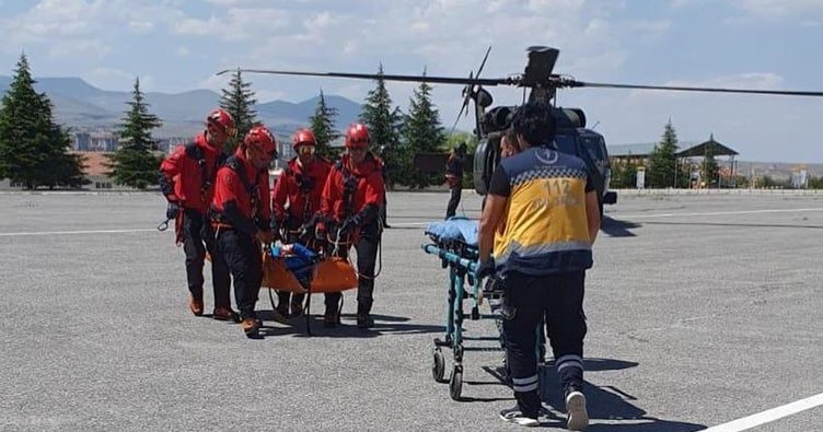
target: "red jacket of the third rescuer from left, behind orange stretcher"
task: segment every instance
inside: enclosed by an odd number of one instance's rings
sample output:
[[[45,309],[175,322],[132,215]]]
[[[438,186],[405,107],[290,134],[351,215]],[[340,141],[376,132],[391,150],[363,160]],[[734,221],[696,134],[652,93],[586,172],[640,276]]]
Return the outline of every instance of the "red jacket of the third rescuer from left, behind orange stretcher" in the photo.
[[[315,156],[309,166],[301,165],[297,156],[289,161],[271,192],[271,212],[278,225],[289,220],[305,223],[320,210],[331,170],[332,163],[322,157]]]

